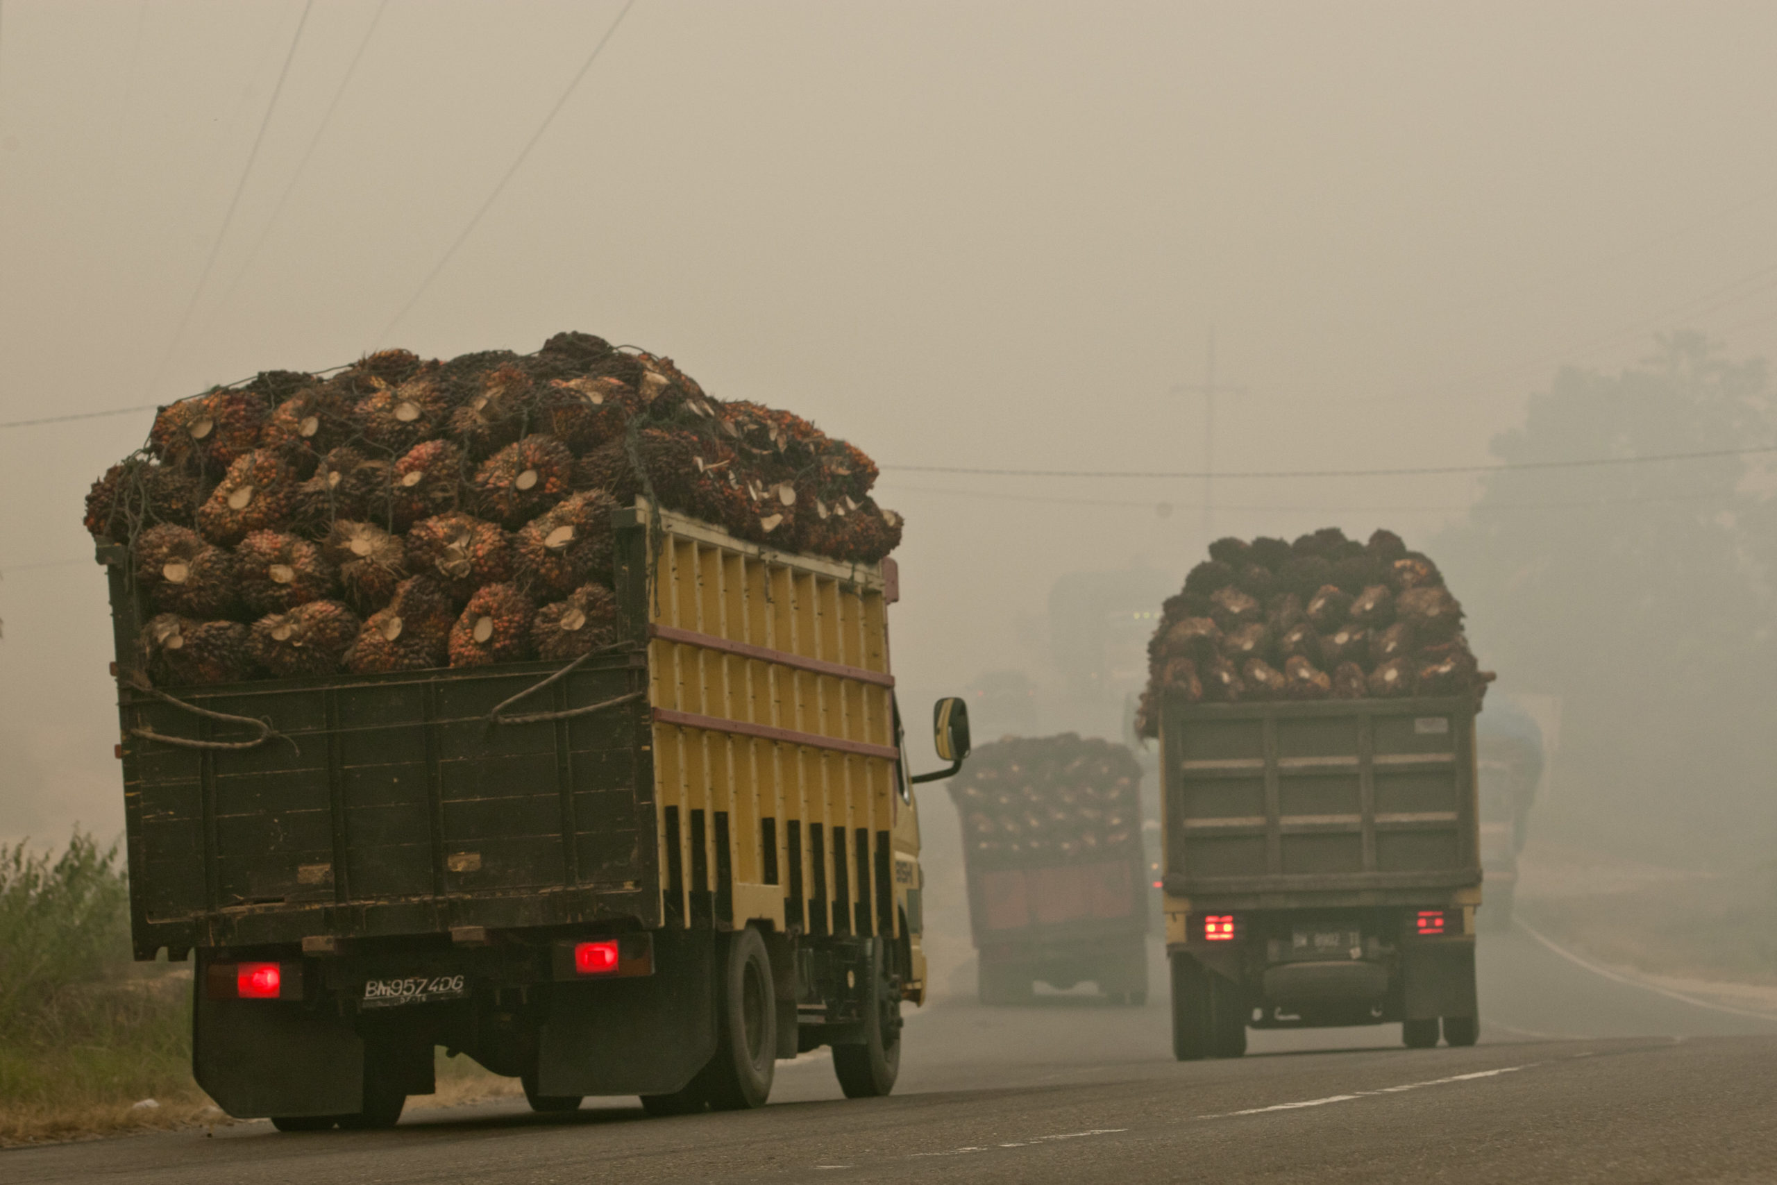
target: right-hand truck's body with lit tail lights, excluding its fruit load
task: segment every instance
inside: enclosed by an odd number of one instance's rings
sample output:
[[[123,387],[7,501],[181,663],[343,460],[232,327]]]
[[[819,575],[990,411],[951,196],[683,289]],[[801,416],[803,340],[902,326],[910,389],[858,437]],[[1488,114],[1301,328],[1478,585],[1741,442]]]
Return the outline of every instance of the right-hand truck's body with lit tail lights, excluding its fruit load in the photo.
[[[1239,1057],[1247,1027],[1475,1043],[1477,709],[1162,702],[1176,1057]]]

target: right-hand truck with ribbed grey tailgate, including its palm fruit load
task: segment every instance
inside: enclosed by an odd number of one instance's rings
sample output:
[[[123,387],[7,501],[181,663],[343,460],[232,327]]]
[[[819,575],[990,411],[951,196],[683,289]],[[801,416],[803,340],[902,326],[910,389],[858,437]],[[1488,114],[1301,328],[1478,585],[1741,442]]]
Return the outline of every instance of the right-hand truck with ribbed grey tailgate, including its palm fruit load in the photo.
[[[1223,538],[1166,602],[1137,728],[1160,741],[1176,1057],[1239,1057],[1249,1027],[1478,1036],[1493,675],[1461,622],[1391,531]]]

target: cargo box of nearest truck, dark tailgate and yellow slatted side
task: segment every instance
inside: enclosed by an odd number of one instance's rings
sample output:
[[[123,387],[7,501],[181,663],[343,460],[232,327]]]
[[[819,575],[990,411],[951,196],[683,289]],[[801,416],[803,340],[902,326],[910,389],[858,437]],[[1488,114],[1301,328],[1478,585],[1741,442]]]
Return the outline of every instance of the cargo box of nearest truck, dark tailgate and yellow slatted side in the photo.
[[[110,565],[133,938],[242,947],[633,919],[899,933],[892,561],[617,515],[622,640],[151,688]]]

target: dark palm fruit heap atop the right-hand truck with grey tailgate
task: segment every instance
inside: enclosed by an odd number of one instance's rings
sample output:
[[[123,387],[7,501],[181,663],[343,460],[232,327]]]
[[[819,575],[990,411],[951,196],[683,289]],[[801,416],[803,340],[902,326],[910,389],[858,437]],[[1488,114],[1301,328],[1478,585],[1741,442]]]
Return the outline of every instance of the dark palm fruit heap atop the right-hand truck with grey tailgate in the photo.
[[[1393,531],[1219,538],[1162,606],[1136,725],[1159,736],[1162,695],[1361,700],[1482,695],[1489,682],[1438,565]]]

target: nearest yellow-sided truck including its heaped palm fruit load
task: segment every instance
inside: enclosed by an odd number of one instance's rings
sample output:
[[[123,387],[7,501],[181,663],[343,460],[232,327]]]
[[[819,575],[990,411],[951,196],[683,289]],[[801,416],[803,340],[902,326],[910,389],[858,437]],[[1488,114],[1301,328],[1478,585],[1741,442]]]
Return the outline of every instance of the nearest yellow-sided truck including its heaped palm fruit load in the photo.
[[[679,1114],[826,1045],[888,1093],[926,965],[874,476],[590,334],[162,409],[87,528],[135,956],[195,959],[199,1086],[386,1126],[444,1046]]]

